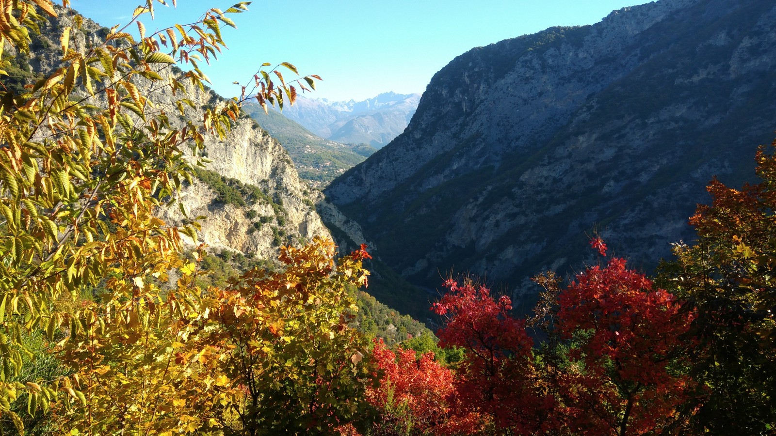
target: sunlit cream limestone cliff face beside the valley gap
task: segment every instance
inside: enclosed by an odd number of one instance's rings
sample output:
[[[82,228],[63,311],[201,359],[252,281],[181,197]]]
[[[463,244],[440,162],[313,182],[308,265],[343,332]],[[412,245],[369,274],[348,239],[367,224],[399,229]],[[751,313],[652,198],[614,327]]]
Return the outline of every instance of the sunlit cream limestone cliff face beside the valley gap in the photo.
[[[192,90],[190,94],[200,105],[220,101],[212,92],[198,95]],[[198,115],[195,111],[189,116]],[[195,178],[180,199],[190,216],[207,216],[201,223],[202,242],[220,250],[275,258],[281,244],[303,244],[316,236],[331,238],[315,210],[314,199],[320,192],[300,180],[286,150],[248,116],[238,119],[223,140],[207,138],[206,158],[210,160],[207,170],[253,185],[266,198],[245,206],[220,202],[212,187]],[[251,214],[255,216],[249,218]],[[162,217],[174,222],[183,219],[177,206],[165,210]],[[269,221],[262,223],[257,217]]]

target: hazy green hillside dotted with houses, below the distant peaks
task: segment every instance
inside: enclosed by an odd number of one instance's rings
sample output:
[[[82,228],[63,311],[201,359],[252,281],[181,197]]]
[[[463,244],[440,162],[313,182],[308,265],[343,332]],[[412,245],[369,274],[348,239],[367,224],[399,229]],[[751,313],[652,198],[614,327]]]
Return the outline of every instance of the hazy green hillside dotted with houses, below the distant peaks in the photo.
[[[254,102],[248,102],[243,110],[282,144],[299,171],[300,178],[314,188],[328,185],[345,170],[377,151],[367,144],[341,144],[324,140],[279,112],[270,110],[265,113]]]

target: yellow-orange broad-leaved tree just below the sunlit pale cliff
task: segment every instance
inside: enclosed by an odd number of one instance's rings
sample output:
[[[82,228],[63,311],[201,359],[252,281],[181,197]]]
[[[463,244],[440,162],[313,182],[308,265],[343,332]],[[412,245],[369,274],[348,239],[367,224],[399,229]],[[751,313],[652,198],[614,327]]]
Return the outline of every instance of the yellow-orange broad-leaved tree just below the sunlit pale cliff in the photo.
[[[365,285],[364,247],[334,260],[331,240],[284,247],[282,271],[254,269],[214,295],[201,328],[220,350],[224,434],[332,434],[364,414],[365,338],[349,326]],[[215,291],[215,290],[213,290]],[[182,360],[199,358],[196,349]]]

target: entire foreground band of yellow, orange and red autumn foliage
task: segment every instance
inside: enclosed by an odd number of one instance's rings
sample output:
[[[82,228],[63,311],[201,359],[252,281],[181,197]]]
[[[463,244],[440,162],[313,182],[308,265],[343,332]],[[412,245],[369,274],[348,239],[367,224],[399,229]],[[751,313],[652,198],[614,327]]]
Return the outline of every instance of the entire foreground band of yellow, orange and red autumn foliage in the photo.
[[[200,155],[205,135],[223,136],[240,111],[232,100],[176,129],[166,111],[185,115],[182,81],[201,88],[204,78],[196,61],[182,77],[162,74],[175,57],[213,57],[220,26],[233,25],[225,14],[244,3],[144,36],[148,2],[132,21],[140,40],[113,29],[88,48],[70,44],[82,24],[73,12],[48,0],[0,4],[0,48],[19,53],[43,15],[70,16],[63,66],[0,92],[4,433],[774,431],[776,142],[757,154],[759,184],[712,182],[712,205],[691,218],[698,240],[675,245],[657,284],[607,257],[595,236],[598,265],[567,284],[553,272],[535,279],[545,291],[531,320],[514,317],[508,296],[447,280],[435,343],[357,294],[369,277],[364,245],[337,256],[316,238],[217,276],[202,245],[183,251],[196,220],[171,227],[154,216],[192,181],[185,147]],[[275,87],[257,75],[260,100],[293,101],[278,77]],[[167,89],[179,106],[154,105]],[[266,201],[200,175],[234,189],[223,188],[234,201]],[[369,320],[383,318],[398,337],[371,337],[380,332]]]

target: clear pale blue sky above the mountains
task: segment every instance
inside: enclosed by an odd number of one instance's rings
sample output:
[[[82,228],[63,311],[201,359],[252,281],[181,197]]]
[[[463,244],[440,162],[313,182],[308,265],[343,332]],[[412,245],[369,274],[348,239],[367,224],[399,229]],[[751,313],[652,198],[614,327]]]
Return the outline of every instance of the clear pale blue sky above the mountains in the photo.
[[[171,5],[171,0],[167,0]],[[237,30],[223,39],[230,50],[204,71],[230,97],[263,62],[288,61],[300,74],[324,81],[308,97],[368,99],[381,92],[423,92],[431,76],[473,47],[535,33],[550,26],[593,24],[612,10],[646,0],[258,0],[232,14]],[[144,3],[144,2],[143,2]],[[209,8],[234,0],[178,0],[158,5],[147,31],[195,21]],[[127,22],[140,1],[71,0],[102,26]],[[283,74],[286,79],[287,74]]]

